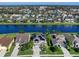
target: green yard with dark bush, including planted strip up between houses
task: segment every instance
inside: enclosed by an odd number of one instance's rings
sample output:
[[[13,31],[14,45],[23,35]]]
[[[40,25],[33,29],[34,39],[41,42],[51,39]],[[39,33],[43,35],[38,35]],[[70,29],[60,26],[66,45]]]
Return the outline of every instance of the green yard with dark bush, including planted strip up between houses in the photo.
[[[63,52],[60,47],[53,46],[51,43],[51,35],[49,33],[46,34],[47,44],[41,47],[41,55],[63,55]]]

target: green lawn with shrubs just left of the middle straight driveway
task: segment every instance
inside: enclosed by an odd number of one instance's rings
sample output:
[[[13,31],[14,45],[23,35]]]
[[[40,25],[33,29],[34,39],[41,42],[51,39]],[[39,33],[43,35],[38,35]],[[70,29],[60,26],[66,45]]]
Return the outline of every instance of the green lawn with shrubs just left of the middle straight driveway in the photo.
[[[32,55],[33,41],[21,45],[18,55]]]

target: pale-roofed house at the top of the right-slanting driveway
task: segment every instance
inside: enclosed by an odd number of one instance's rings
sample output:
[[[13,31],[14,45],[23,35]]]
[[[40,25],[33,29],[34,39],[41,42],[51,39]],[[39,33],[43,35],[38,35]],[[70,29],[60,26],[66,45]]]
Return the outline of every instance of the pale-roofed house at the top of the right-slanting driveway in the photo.
[[[56,35],[56,34],[53,35],[53,37],[52,37],[52,44],[53,44],[53,46],[61,45],[63,47],[66,47],[65,43],[66,43],[66,40],[65,40],[64,35]]]

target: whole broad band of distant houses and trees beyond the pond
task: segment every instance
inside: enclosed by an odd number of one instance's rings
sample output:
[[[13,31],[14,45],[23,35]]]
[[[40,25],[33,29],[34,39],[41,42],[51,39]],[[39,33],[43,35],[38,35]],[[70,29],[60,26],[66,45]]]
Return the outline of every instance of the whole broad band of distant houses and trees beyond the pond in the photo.
[[[0,10],[5,10],[7,13],[2,12],[0,14],[0,20],[75,22],[75,20],[79,18],[78,9],[79,8],[55,6],[1,7]],[[9,11],[13,13],[9,13]]]

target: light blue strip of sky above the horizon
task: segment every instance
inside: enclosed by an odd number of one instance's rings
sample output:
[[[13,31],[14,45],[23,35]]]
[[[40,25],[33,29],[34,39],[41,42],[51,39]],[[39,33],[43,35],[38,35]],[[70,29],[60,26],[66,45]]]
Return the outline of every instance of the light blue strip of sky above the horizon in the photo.
[[[0,5],[76,5],[79,2],[0,2]]]

